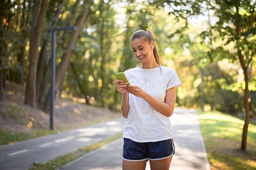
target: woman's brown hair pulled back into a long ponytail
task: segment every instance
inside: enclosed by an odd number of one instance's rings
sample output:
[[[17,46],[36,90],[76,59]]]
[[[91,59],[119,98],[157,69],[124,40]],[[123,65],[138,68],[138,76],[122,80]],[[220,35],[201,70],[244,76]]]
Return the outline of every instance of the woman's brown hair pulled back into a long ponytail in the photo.
[[[139,31],[136,31],[135,33],[132,34],[130,42],[132,42],[136,38],[144,38],[144,40],[146,42],[148,42],[148,43],[151,43],[152,41],[154,42],[153,53],[154,53],[154,56],[155,56],[155,61],[157,62],[157,64],[159,64],[159,67],[160,67],[159,54],[158,54],[158,51],[157,51],[157,47],[156,47],[153,31],[151,31],[151,30],[139,30]],[[161,67],[160,67],[160,69],[161,69]]]

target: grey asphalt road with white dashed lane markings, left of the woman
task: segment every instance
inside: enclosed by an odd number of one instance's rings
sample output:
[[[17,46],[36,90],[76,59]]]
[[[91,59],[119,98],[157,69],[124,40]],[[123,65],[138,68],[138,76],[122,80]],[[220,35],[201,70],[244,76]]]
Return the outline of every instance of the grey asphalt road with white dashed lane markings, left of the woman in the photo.
[[[0,146],[0,170],[27,170],[122,132],[126,119],[119,118],[76,130]]]

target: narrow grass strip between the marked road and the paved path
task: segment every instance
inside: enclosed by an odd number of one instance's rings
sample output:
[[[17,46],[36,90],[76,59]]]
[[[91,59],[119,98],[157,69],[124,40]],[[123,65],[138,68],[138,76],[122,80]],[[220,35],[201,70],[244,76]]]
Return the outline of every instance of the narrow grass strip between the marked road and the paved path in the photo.
[[[70,163],[74,161],[75,159],[78,159],[79,157],[82,157],[83,155],[92,152],[93,150],[99,149],[102,146],[109,144],[112,141],[115,141],[116,139],[119,139],[122,137],[123,133],[118,133],[117,135],[113,135],[111,137],[107,137],[103,139],[100,142],[91,144],[89,146],[85,146],[84,148],[78,149],[74,152],[68,153],[66,155],[62,155],[60,157],[57,157],[56,159],[53,159],[51,161],[48,161],[46,163],[33,163],[32,168],[29,168],[29,170],[55,170],[57,168],[62,168],[67,163]]]

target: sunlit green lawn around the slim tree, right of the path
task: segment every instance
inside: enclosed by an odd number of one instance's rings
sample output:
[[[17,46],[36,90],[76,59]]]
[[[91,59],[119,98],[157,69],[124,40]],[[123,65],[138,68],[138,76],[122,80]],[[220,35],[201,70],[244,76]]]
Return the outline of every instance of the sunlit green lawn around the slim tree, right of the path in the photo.
[[[247,150],[243,151],[243,120],[218,111],[198,113],[211,170],[256,170],[255,122],[249,124]]]

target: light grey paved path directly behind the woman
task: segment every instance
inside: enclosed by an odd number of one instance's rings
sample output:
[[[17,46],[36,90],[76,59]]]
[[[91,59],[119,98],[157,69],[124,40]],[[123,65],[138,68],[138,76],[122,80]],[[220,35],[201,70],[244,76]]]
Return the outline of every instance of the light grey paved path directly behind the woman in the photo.
[[[175,155],[170,170],[210,170],[195,110],[175,108],[171,116]],[[123,139],[90,152],[61,170],[121,170]],[[146,170],[150,170],[147,163]]]

